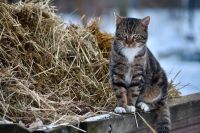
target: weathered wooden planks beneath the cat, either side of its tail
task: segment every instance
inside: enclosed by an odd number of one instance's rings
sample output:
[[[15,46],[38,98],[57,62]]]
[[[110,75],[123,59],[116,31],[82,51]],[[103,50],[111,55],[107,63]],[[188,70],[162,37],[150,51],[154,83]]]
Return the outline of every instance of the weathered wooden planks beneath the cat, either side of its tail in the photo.
[[[200,122],[200,93],[183,96],[169,100],[172,131],[179,132],[187,129],[193,133],[199,133],[198,123]],[[154,113],[141,114],[151,125],[153,125]],[[195,123],[194,122],[195,119]],[[122,116],[111,115],[109,119],[83,122],[81,128],[87,133],[147,133],[151,132],[145,123],[137,118],[139,128],[135,124],[134,115],[126,114]],[[190,122],[189,122],[190,121]],[[192,121],[192,122],[191,122]],[[179,124],[180,123],[180,124]],[[184,126],[183,126],[184,125]],[[193,126],[195,125],[195,126]],[[182,127],[183,126],[183,127]],[[191,131],[192,132],[192,131]]]

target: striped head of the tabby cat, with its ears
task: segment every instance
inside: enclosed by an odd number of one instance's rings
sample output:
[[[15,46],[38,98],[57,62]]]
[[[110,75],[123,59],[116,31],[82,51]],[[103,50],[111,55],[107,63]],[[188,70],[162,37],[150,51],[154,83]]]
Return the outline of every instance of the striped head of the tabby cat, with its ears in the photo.
[[[148,25],[150,17],[143,19],[126,18],[119,15],[116,17],[115,40],[122,43],[125,47],[141,47],[146,44],[148,37]]]

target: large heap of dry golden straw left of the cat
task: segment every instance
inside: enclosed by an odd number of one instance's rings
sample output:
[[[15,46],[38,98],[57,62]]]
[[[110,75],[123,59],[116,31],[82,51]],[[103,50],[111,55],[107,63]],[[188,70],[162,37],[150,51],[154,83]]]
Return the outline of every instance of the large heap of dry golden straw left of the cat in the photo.
[[[0,2],[0,118],[28,127],[112,110],[111,41],[96,22],[65,28],[48,4]]]

